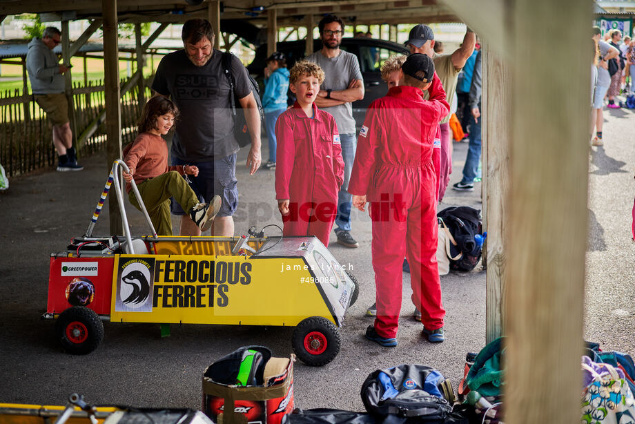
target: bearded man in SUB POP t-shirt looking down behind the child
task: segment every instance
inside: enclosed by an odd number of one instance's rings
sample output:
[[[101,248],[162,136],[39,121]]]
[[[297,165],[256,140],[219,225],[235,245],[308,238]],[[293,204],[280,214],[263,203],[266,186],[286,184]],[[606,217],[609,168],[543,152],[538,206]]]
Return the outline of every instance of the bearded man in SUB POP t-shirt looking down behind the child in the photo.
[[[172,164],[199,168],[197,177],[190,176],[190,186],[200,202],[209,202],[214,195],[222,197],[212,234],[231,237],[234,235],[232,216],[238,206],[236,153],[239,146],[233,135],[230,85],[221,64],[222,51],[213,48],[214,32],[205,19],[186,21],[181,38],[184,50],[161,59],[152,89],[159,95],[170,96],[181,111],[172,140]],[[253,175],[260,166],[260,115],[247,70],[233,55],[231,74],[251,135],[246,165]],[[201,235],[200,229],[176,202],[172,202],[171,209],[174,215],[182,215],[181,235]]]

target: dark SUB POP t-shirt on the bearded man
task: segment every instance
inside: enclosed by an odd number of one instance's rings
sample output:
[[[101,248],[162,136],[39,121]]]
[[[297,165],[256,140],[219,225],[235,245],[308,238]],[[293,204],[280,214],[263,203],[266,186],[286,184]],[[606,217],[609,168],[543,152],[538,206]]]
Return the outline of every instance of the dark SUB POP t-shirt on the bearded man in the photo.
[[[207,64],[195,66],[185,50],[177,50],[159,62],[152,89],[170,96],[180,111],[172,140],[173,157],[211,162],[238,151],[229,81],[223,73],[221,57],[222,52],[214,49]],[[251,93],[247,70],[235,56],[231,70],[237,97]]]

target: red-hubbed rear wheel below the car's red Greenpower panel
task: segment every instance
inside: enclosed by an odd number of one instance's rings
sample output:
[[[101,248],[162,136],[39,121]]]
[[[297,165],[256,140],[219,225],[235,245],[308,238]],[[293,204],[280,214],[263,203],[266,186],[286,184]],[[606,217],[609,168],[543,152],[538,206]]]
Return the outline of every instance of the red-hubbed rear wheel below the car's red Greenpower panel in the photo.
[[[92,309],[74,306],[59,314],[55,336],[69,354],[86,355],[104,340],[104,324]]]

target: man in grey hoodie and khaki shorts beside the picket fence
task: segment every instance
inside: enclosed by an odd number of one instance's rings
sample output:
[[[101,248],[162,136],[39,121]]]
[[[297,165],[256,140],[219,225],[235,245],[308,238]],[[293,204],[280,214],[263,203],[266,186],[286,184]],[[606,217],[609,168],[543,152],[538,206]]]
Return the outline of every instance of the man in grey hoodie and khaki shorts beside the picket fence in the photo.
[[[42,38],[35,37],[29,43],[26,54],[26,70],[31,81],[35,102],[46,112],[53,124],[53,146],[57,151],[57,171],[81,171],[77,164],[72,132],[68,121],[68,101],[64,73],[68,67],[58,63],[52,51],[61,41],[61,32],[53,26],[44,29]]]

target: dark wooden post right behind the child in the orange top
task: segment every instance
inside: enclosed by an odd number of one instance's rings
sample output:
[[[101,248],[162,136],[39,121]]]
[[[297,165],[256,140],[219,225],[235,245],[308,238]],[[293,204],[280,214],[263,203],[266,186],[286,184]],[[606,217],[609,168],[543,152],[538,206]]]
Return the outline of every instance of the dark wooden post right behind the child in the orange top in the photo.
[[[117,0],[101,0],[104,14],[104,95],[106,98],[106,169],[121,157],[121,108],[119,107],[119,41]],[[123,223],[116,197],[108,196],[110,234],[119,234]]]

